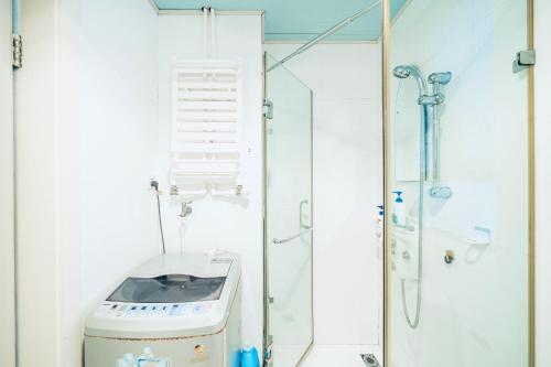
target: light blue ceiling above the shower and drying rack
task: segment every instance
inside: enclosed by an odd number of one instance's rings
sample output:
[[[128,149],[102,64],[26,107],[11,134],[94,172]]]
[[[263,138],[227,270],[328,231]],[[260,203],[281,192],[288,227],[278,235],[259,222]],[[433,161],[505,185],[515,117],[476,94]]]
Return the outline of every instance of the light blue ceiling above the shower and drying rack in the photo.
[[[311,40],[375,0],[154,0],[161,10],[264,10],[266,40]],[[392,1],[392,17],[407,0]],[[380,7],[333,35],[334,41],[375,41],[380,36]]]

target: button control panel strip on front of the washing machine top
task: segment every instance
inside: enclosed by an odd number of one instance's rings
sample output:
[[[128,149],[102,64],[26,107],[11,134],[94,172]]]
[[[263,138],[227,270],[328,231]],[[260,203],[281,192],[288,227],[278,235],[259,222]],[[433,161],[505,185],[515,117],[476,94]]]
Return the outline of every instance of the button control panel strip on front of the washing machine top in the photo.
[[[216,301],[186,303],[126,303],[104,302],[95,312],[97,317],[185,317],[206,315],[214,311]]]

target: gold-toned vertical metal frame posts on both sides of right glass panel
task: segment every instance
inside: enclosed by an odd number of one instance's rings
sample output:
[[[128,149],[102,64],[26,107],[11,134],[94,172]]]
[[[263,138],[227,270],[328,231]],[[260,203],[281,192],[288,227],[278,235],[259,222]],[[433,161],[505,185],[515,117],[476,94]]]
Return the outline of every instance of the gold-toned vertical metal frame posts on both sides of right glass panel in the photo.
[[[392,205],[391,170],[392,170],[392,118],[391,118],[391,14],[390,4],[392,0],[381,0],[382,12],[382,136],[383,136],[383,199],[385,207]],[[534,48],[534,0],[527,0],[527,47]],[[511,55],[514,56],[514,55]],[[528,367],[536,367],[536,149],[534,149],[534,69],[529,67],[528,90],[527,90],[527,120],[528,120],[528,213],[529,213],[529,257],[528,257]],[[391,220],[389,215],[385,215],[383,234],[383,363],[390,366],[390,277],[391,277],[391,242],[390,238]]]

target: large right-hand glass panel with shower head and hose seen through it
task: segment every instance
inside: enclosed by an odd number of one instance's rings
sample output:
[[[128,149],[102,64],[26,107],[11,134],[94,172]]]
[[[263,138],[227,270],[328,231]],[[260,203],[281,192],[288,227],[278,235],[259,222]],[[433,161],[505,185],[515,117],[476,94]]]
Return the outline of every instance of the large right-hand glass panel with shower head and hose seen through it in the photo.
[[[392,367],[528,366],[527,30],[526,0],[392,23]]]

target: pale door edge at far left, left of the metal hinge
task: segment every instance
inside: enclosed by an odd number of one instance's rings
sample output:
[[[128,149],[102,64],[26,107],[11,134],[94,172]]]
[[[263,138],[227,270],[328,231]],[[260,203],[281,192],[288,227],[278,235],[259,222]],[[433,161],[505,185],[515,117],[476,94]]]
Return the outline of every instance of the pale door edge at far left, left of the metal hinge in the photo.
[[[15,366],[12,0],[0,0],[0,366]]]

